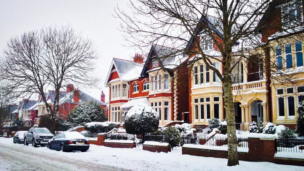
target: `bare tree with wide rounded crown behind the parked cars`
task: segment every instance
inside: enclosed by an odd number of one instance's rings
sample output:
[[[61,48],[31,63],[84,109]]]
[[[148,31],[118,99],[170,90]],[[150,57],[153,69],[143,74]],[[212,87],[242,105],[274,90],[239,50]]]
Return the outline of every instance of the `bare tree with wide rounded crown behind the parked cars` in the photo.
[[[0,59],[0,78],[16,97],[40,94],[55,126],[60,90],[69,84],[94,87],[94,43],[68,26],[50,26],[12,37]],[[52,105],[46,93],[54,89]],[[78,93],[79,94],[79,93]],[[51,131],[54,132],[54,127]]]

